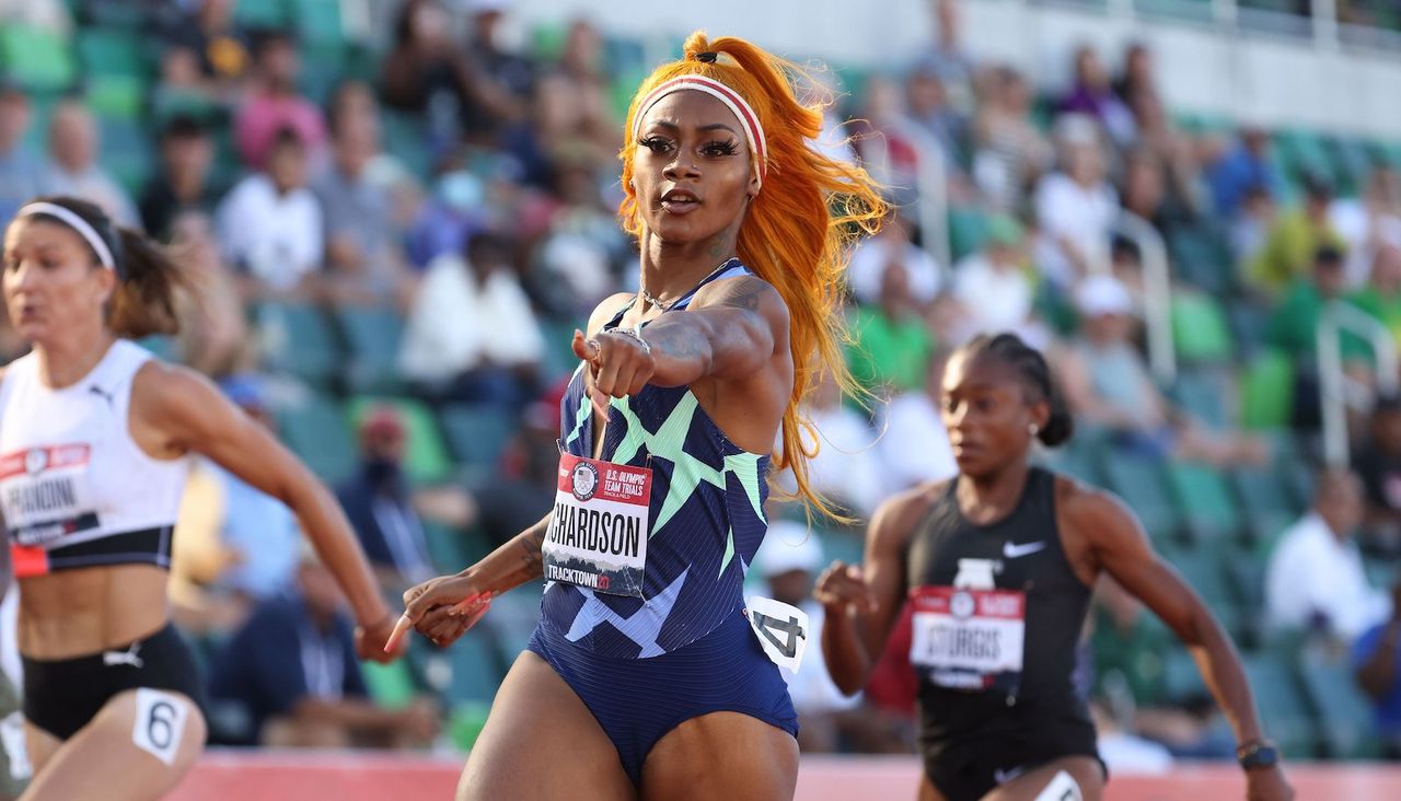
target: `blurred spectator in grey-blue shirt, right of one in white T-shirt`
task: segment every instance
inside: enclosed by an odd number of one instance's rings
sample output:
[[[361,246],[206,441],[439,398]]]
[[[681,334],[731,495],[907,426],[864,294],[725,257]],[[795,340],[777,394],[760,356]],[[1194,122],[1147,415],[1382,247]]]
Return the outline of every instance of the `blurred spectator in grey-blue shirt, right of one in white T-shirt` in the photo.
[[[378,104],[360,81],[342,84],[331,104],[331,164],[312,182],[325,221],[328,279],[342,302],[406,308],[413,295],[389,190],[370,174],[380,154]]]

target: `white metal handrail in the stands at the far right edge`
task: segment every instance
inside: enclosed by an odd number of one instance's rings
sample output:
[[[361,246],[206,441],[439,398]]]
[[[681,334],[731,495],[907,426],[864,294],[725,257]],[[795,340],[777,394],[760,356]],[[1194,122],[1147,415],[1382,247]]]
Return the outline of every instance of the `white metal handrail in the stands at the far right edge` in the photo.
[[[1318,316],[1318,398],[1323,409],[1323,452],[1330,466],[1348,465],[1348,406],[1369,410],[1372,391],[1344,371],[1342,333],[1360,336],[1372,343],[1377,391],[1397,391],[1397,343],[1391,329],[1372,315],[1345,301],[1332,301]]]

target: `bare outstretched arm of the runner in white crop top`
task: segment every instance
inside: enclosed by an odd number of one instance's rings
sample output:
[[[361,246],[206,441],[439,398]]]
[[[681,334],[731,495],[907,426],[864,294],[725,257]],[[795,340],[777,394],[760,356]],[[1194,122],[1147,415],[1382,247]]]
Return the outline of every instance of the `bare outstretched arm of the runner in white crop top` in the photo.
[[[380,597],[354,531],[331,490],[297,457],[207,378],[184,367],[153,363],[142,368],[132,403],[133,420],[158,431],[171,452],[203,454],[287,504],[350,602],[360,625],[360,657],[394,658],[384,653],[394,616]]]

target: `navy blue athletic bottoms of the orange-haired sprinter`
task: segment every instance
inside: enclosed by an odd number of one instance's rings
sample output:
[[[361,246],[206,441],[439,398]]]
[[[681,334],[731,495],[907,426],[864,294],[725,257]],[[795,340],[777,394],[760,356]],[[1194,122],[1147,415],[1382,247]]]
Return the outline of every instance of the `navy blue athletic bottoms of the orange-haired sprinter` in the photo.
[[[797,737],[787,683],[740,609],[715,632],[660,657],[600,657],[545,623],[535,627],[527,648],[584,702],[637,787],[657,741],[702,714],[737,711]]]

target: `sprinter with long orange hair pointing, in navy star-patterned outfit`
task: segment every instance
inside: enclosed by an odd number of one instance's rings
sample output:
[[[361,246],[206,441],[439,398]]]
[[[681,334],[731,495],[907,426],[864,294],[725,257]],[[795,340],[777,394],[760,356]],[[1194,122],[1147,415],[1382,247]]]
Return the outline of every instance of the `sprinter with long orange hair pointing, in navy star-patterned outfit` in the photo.
[[[401,630],[446,643],[478,602],[548,580],[461,798],[793,794],[796,717],[741,583],[780,430],[776,462],[807,490],[797,400],[811,365],[841,364],[846,244],[883,203],[810,147],[821,109],[794,99],[790,70],[693,34],[637,90],[621,214],[642,287],[574,335],[555,510],[405,594]]]

